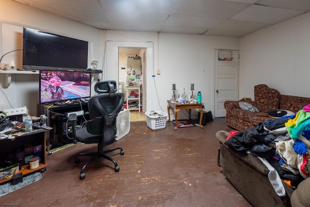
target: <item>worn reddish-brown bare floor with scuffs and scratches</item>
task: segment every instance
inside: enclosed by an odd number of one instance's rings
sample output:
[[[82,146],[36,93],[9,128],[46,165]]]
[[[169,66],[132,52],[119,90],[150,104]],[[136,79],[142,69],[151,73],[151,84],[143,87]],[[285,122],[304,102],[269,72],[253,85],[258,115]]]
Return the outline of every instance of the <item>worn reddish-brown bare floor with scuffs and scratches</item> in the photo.
[[[74,163],[80,152],[95,151],[96,144],[78,143],[47,156],[41,180],[0,197],[3,206],[20,207],[251,207],[217,166],[218,130],[230,131],[225,119],[199,127],[151,130],[145,122],[132,122],[128,135],[108,146],[120,166],[99,159],[86,168]]]

